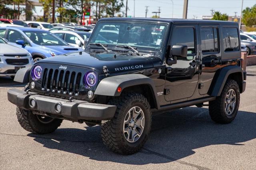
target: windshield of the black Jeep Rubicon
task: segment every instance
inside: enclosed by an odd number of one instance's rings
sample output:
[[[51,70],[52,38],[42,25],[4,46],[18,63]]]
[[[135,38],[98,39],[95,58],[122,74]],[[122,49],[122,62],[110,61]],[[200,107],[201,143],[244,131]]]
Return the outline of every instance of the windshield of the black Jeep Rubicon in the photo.
[[[99,22],[90,43],[160,49],[167,28],[167,24],[151,22]]]

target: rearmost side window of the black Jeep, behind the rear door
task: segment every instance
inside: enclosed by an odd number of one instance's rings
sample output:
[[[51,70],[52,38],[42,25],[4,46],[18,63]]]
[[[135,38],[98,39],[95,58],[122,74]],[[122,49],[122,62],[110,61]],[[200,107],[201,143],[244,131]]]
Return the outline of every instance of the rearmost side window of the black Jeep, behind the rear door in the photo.
[[[238,30],[232,27],[222,28],[224,51],[239,51]]]

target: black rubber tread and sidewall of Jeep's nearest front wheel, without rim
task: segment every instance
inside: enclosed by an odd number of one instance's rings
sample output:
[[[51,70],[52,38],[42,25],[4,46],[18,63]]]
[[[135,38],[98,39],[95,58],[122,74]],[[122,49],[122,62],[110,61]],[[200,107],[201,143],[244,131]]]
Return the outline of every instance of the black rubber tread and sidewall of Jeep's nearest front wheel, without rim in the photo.
[[[101,136],[103,143],[113,152],[119,154],[134,154],[138,152],[146,142],[151,128],[150,104],[146,97],[138,93],[124,93],[119,97],[110,99],[109,105],[116,105],[114,117],[102,125]],[[126,113],[130,108],[139,106],[145,116],[144,131],[140,138],[133,143],[126,140],[123,134],[123,123]]]

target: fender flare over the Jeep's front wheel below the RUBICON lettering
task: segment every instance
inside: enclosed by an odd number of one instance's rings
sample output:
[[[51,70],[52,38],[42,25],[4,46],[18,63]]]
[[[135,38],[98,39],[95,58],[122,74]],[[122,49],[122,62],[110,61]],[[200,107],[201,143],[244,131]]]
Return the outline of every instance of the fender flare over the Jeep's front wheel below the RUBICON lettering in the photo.
[[[119,93],[117,91],[118,87],[121,87],[122,90],[124,90],[126,87],[135,85],[148,85],[151,89],[151,93],[153,93],[152,97],[154,99],[156,109],[160,108],[160,104],[157,101],[154,81],[142,74],[126,74],[106,77],[100,81],[94,94],[104,96],[120,96],[122,92]]]

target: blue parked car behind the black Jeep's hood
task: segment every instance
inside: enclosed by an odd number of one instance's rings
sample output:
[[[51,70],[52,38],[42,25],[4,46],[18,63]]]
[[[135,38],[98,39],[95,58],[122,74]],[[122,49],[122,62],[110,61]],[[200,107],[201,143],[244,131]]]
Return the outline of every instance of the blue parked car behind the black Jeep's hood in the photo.
[[[51,32],[37,28],[4,27],[0,28],[0,37],[8,40],[10,44],[28,50],[34,62],[60,54],[83,51],[82,48],[68,45]]]

